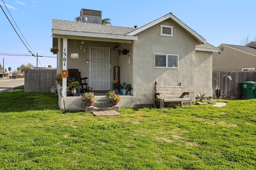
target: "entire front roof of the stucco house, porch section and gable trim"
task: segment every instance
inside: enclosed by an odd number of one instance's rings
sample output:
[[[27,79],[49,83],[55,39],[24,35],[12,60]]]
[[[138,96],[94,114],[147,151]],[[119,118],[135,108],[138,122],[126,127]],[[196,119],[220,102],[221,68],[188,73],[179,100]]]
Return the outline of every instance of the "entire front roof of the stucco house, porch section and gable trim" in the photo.
[[[198,43],[196,45],[206,43],[206,40],[202,36],[200,36],[194,30],[189,28],[186,24],[181,22],[178,18],[172,15],[172,13],[169,13],[157,20],[154,20],[149,24],[146,24],[145,26],[142,26],[138,29],[53,19],[52,34],[53,34],[53,38],[56,37],[55,34],[59,34],[59,35],[66,35],[66,36],[84,36],[84,37],[93,37],[93,38],[138,40],[138,37],[135,36],[136,34],[169,18],[173,22],[175,22],[178,26],[180,26],[182,30],[184,30],[190,36],[192,36],[195,40],[197,40]]]

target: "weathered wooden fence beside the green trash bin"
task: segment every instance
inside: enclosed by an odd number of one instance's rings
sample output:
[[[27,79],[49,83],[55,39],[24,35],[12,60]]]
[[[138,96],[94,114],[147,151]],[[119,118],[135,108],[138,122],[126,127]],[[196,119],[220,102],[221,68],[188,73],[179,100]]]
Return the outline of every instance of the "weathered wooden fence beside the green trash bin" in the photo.
[[[220,98],[238,99],[242,95],[239,83],[244,81],[256,81],[256,71],[213,71],[212,91],[220,89]]]

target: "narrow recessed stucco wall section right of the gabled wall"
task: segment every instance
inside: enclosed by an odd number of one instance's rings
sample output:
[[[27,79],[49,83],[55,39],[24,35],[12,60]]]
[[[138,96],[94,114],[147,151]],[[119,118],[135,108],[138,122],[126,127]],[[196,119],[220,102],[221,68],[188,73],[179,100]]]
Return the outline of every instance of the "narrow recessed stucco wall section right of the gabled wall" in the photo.
[[[212,52],[196,51],[195,93],[212,97]]]

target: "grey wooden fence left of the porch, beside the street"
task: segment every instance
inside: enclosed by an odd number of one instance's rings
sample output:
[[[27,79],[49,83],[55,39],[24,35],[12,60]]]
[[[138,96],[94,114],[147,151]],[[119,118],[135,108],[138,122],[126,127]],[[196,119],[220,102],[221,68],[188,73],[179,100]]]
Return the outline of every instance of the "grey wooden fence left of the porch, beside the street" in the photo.
[[[56,77],[56,69],[25,69],[24,91],[50,93],[52,86],[56,87]]]

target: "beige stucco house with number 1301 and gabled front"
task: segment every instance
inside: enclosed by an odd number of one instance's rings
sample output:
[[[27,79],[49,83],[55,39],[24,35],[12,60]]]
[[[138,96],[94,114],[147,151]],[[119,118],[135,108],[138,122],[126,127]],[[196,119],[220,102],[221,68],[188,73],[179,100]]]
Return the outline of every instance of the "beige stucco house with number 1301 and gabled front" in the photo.
[[[83,16],[86,13],[96,16]],[[88,77],[86,81],[93,90],[109,91],[116,79],[114,68],[120,67],[120,83],[131,83],[133,88],[132,96],[119,102],[121,108],[152,105],[155,81],[158,85],[182,82],[185,91],[193,92],[192,101],[196,93],[212,96],[212,53],[219,49],[206,43],[172,13],[140,28],[101,25],[98,17],[101,11],[82,9],[82,21],[96,23],[52,20],[53,46],[59,48],[57,73],[79,69],[82,77]],[[119,55],[120,47],[130,53]],[[79,57],[72,59],[71,53],[78,53]],[[63,78],[62,89],[66,89],[65,81]],[[82,108],[77,97],[74,101],[67,98],[70,97],[65,93],[59,97],[60,109]]]

